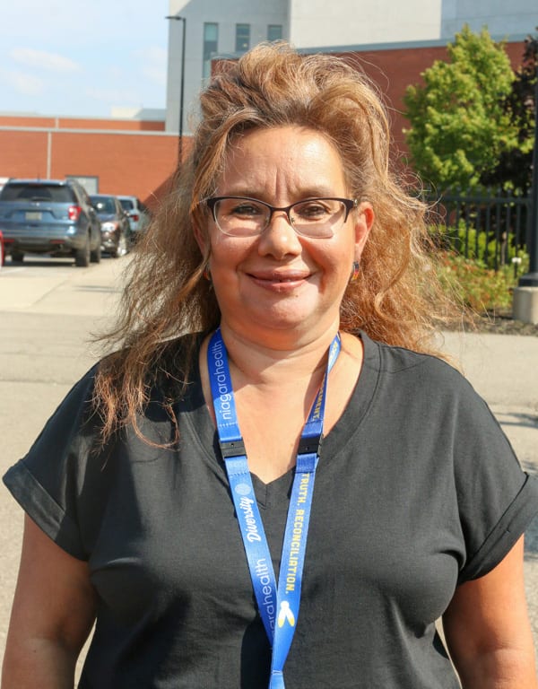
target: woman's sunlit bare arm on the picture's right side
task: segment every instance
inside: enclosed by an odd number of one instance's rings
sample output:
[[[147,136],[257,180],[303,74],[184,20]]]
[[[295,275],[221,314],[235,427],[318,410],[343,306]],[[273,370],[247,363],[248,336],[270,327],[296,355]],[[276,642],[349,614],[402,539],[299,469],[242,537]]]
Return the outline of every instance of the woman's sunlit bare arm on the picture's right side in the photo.
[[[494,570],[456,589],[443,626],[464,689],[538,689],[523,536]]]

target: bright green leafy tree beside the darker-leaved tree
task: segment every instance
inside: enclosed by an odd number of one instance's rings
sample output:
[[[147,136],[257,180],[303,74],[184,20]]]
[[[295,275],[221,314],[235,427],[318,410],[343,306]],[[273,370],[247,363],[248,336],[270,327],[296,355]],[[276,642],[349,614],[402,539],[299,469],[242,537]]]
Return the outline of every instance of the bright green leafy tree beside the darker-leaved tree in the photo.
[[[517,145],[517,127],[503,107],[514,73],[503,42],[465,25],[447,46],[449,61],[436,60],[408,86],[404,130],[412,164],[438,192],[479,184],[502,151]]]

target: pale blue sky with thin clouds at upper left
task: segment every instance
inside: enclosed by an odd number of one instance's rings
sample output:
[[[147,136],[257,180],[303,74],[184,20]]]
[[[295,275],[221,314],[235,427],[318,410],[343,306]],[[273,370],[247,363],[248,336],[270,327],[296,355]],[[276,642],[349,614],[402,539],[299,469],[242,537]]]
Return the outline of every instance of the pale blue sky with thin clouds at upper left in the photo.
[[[169,0],[0,0],[0,113],[164,109]]]

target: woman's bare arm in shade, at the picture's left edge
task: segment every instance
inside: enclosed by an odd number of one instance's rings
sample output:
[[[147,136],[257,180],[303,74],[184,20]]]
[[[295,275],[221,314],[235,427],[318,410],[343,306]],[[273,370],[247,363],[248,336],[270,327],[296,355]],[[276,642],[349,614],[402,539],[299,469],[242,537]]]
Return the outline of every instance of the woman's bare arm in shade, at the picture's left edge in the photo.
[[[26,517],[2,689],[71,689],[94,618],[87,563],[65,553]]]

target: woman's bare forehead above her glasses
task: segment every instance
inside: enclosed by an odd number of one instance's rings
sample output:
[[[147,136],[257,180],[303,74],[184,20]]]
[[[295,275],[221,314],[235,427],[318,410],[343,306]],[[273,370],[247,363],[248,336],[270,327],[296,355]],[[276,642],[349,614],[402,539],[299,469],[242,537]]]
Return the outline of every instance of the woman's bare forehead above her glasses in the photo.
[[[301,126],[256,128],[236,135],[217,180],[220,194],[342,194],[343,162],[334,144]]]

